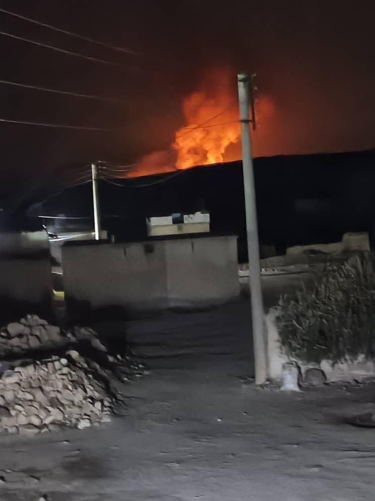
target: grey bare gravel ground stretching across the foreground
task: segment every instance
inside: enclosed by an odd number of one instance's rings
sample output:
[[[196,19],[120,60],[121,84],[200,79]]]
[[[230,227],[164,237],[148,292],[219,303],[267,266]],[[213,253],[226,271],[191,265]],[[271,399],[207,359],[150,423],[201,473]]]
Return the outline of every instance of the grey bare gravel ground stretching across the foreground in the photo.
[[[1,436],[0,499],[357,501],[373,499],[375,386],[285,394],[256,388],[247,302],[110,322],[149,368],[128,409],[96,429]]]

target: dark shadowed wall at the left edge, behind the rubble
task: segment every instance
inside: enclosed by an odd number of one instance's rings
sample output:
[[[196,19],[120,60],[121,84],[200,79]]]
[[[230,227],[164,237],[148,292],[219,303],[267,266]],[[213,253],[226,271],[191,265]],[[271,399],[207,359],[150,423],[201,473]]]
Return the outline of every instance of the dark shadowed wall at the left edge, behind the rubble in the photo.
[[[52,310],[48,237],[43,231],[0,233],[0,319]]]

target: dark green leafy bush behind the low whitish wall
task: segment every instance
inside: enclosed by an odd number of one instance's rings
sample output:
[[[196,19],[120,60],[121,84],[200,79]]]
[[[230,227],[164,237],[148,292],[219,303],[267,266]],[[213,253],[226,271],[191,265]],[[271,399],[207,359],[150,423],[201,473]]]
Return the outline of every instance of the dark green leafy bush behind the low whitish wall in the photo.
[[[285,352],[303,362],[375,355],[375,278],[370,255],[329,263],[314,284],[282,296],[278,325]]]

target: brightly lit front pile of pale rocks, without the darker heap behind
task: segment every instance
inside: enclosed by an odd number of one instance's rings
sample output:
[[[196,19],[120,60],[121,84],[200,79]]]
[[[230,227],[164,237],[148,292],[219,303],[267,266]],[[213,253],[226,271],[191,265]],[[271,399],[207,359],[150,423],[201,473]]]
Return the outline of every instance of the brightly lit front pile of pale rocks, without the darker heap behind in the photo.
[[[114,398],[75,350],[7,370],[0,378],[0,430],[35,435],[110,419]]]

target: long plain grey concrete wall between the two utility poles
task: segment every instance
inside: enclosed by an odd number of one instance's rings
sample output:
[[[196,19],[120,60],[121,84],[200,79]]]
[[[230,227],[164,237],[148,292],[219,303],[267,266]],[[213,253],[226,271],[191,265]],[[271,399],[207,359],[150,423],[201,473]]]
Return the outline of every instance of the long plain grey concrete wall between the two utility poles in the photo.
[[[237,297],[236,237],[63,247],[67,305],[123,311],[205,307]]]

